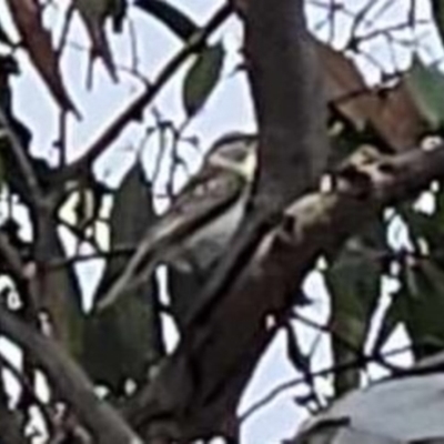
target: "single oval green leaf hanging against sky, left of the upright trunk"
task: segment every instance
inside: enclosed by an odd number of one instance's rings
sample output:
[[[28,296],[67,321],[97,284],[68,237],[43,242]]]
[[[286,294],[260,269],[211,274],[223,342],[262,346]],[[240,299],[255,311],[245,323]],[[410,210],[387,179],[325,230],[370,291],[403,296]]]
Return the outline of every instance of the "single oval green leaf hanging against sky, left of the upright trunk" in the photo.
[[[218,84],[223,67],[221,44],[205,48],[195,59],[183,84],[183,104],[189,117],[198,113]]]

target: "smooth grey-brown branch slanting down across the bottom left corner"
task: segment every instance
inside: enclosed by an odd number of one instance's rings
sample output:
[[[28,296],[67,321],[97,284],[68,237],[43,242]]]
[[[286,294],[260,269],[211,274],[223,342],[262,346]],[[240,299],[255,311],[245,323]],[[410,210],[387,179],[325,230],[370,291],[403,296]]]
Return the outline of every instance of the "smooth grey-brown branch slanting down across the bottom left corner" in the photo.
[[[82,370],[56,342],[21,322],[1,305],[0,333],[41,365],[57,393],[72,407],[98,443],[142,443],[121,416],[108,403],[99,400]]]

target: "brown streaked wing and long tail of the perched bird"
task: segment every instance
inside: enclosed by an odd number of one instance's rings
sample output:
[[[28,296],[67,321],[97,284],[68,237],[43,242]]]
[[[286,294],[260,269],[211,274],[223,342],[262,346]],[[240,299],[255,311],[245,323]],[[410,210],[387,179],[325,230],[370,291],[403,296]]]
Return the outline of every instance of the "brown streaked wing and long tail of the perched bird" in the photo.
[[[148,230],[123,273],[98,301],[97,309],[100,311],[111,305],[132,287],[133,281],[139,281],[135,278],[140,273],[145,281],[168,252],[223,213],[239,199],[243,189],[242,178],[226,170],[205,168],[194,175],[165,214]]]

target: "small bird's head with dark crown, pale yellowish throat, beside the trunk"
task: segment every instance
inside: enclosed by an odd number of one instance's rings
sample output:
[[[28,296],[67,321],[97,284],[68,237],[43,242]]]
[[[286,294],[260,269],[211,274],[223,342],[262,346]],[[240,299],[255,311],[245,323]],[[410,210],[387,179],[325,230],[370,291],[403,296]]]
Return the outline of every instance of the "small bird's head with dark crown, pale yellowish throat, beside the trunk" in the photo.
[[[205,163],[232,171],[252,182],[258,168],[258,137],[253,134],[226,134],[214,142]]]

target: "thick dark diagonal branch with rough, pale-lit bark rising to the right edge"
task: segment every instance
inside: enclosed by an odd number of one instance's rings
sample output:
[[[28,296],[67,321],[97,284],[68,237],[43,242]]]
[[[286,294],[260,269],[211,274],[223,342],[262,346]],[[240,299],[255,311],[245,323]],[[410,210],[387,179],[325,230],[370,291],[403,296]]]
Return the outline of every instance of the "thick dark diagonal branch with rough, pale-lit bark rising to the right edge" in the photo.
[[[382,208],[443,179],[444,145],[375,158],[355,173],[352,180],[340,175],[336,191],[312,193],[289,206],[224,297],[201,307],[160,376],[125,410],[138,430],[157,430],[154,420],[162,415],[182,436],[226,433],[226,412],[239,402],[275,325],[297,303],[315,260],[339,249]],[[172,433],[171,424],[162,426]]]

